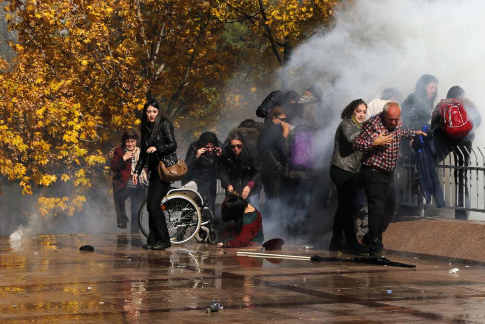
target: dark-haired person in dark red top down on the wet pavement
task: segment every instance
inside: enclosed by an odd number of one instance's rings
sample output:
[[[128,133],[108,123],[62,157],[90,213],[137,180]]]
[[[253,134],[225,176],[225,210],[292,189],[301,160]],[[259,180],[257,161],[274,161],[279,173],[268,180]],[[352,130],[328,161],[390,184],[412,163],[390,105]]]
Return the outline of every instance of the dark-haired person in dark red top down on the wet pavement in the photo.
[[[217,246],[245,247],[261,245],[264,242],[261,213],[239,196],[231,195],[224,200],[222,221],[226,223],[234,221],[233,224],[226,226],[224,231],[225,236],[232,237],[232,239],[217,243]]]

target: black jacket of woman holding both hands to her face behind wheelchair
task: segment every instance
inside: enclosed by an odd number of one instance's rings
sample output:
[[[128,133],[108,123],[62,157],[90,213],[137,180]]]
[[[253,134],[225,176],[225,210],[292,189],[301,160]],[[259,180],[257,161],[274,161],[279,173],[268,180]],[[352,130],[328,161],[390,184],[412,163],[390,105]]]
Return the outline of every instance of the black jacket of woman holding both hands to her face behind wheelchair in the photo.
[[[197,150],[200,149],[197,144],[198,141],[193,142],[187,150],[185,163],[187,163],[188,172],[183,178],[182,184],[191,180],[197,184],[206,184],[210,181],[216,181],[219,178],[220,157],[213,151],[212,154],[205,152],[200,158],[197,158]],[[222,146],[221,143],[216,145],[219,147]]]

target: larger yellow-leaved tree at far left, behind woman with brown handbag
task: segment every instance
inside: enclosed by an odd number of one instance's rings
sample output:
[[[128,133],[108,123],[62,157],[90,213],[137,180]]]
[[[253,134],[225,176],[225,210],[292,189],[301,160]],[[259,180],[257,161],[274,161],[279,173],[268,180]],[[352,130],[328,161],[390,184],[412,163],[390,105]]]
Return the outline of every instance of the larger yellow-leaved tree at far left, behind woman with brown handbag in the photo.
[[[209,89],[232,73],[209,2],[12,0],[5,10],[18,40],[11,65],[0,62],[0,172],[27,194],[54,187],[39,198],[44,213],[82,205],[146,97],[165,98],[177,125],[210,113]]]

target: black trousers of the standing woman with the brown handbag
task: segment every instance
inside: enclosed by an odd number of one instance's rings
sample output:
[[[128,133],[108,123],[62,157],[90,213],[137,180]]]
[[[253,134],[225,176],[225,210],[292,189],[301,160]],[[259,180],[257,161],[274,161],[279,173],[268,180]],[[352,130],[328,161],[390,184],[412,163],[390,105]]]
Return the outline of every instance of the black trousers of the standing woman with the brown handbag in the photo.
[[[167,195],[169,189],[170,183],[162,182],[157,170],[150,172],[147,196],[148,226],[150,233],[147,242],[150,244],[160,244],[164,247],[169,247],[171,243],[161,202]]]

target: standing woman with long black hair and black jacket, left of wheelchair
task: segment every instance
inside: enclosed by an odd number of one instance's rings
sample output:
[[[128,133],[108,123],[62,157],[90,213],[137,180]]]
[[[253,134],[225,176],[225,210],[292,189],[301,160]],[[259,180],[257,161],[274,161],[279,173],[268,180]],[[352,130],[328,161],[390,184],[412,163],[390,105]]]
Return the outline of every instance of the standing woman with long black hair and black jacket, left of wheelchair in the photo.
[[[143,106],[141,116],[141,151],[133,174],[133,183],[145,164],[150,171],[148,185],[148,222],[150,234],[144,249],[163,250],[171,246],[167,223],[162,211],[161,202],[170,188],[170,183],[163,182],[158,175],[158,165],[161,160],[177,161],[175,150],[177,142],[173,135],[173,124],[162,117],[162,110],[157,100],[151,99]]]

